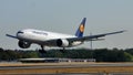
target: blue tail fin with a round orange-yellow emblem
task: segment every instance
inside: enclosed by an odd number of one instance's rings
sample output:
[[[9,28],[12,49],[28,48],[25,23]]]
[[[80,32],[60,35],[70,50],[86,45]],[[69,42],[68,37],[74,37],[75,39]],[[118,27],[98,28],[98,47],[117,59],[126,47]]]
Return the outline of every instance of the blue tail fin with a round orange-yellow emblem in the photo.
[[[83,36],[83,32],[84,32],[84,26],[85,26],[85,20],[86,18],[84,18],[80,24],[80,26],[78,28],[78,31],[75,33],[75,36],[78,38],[82,38]]]

